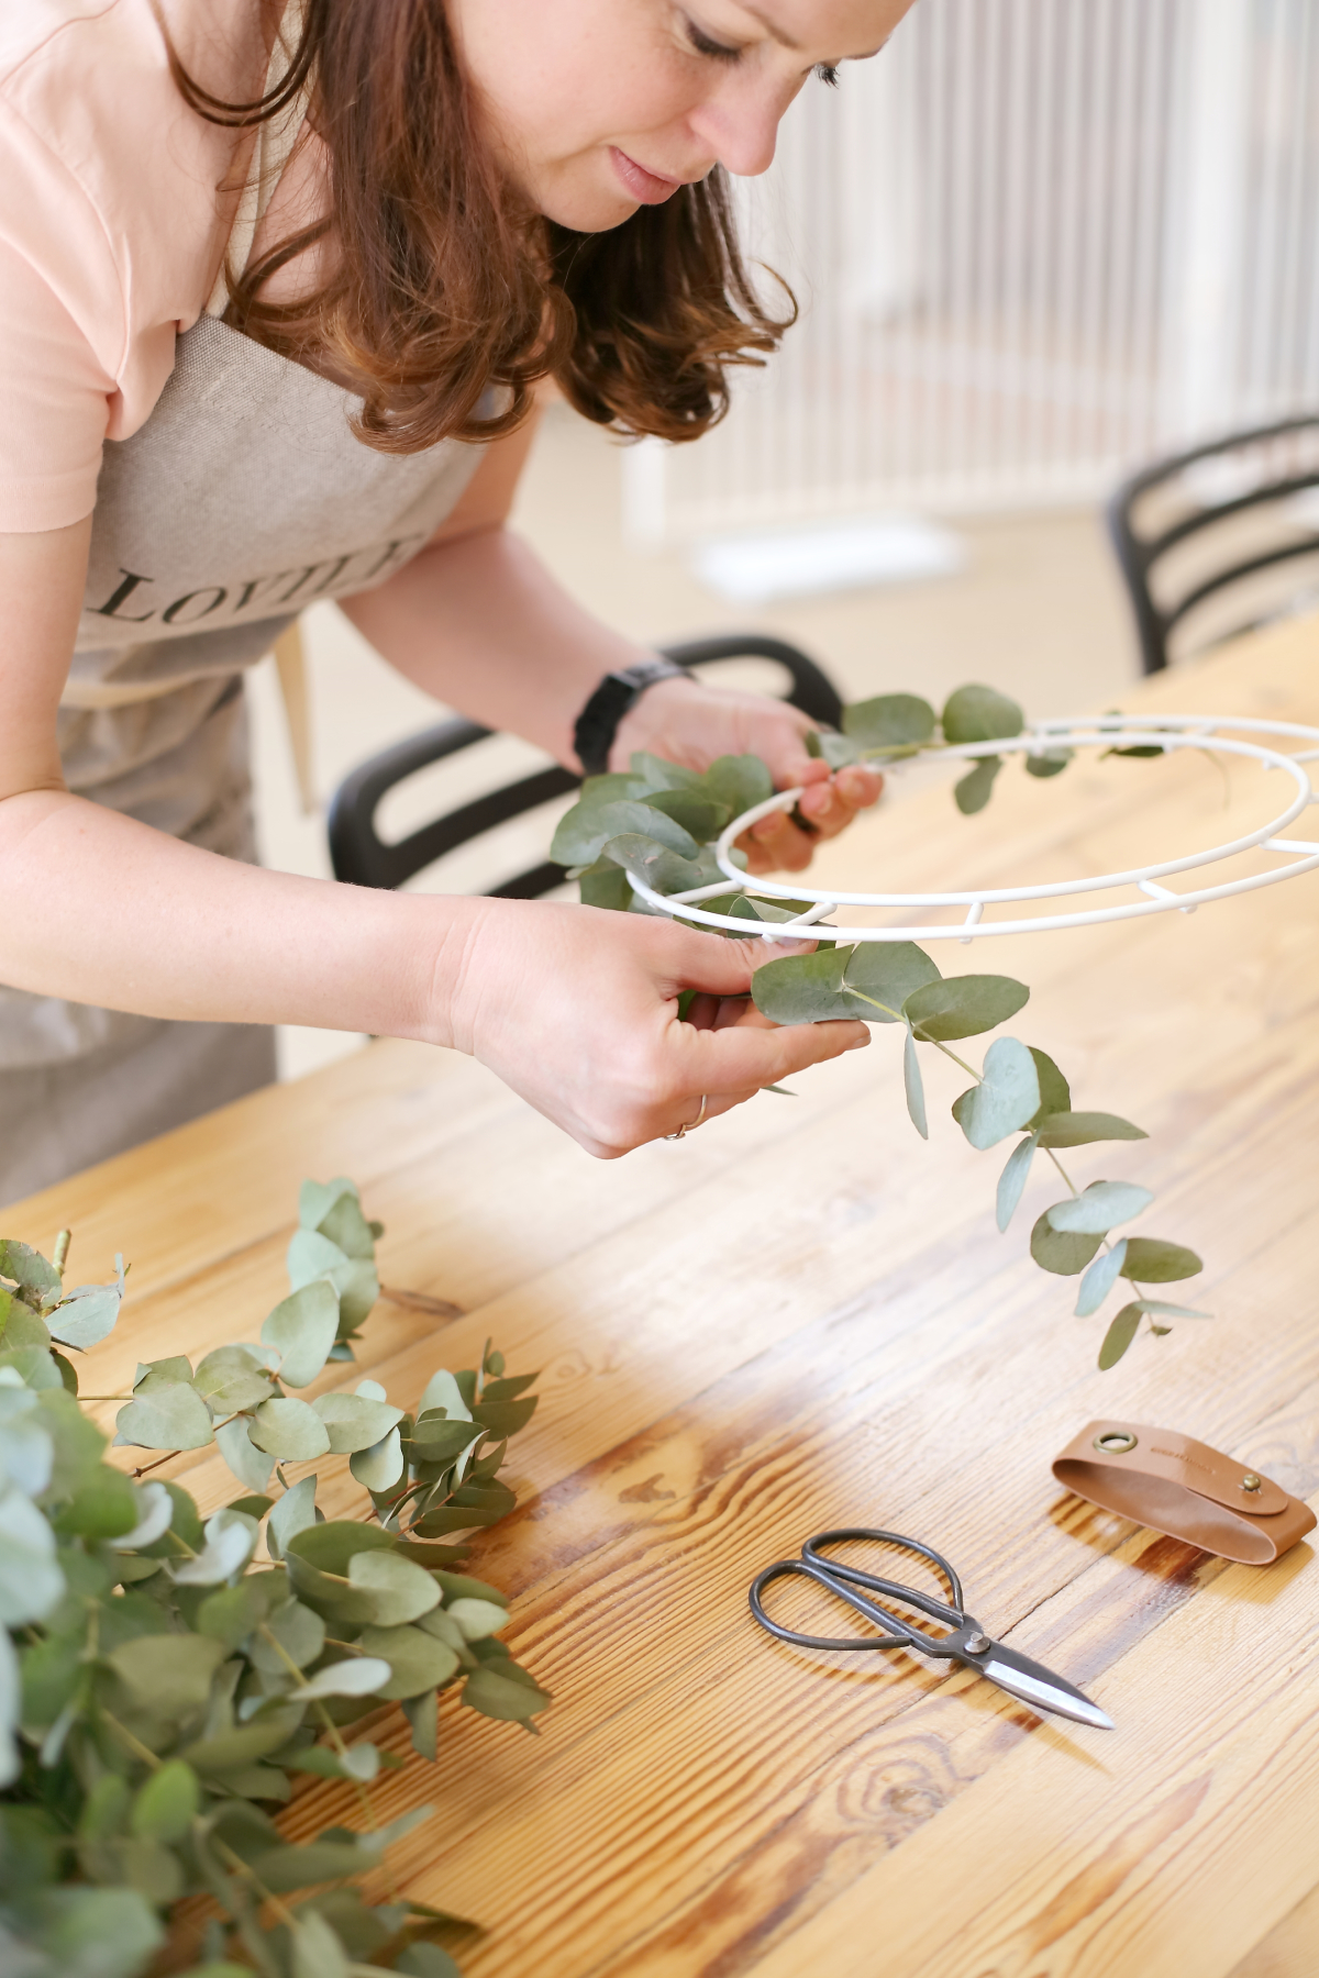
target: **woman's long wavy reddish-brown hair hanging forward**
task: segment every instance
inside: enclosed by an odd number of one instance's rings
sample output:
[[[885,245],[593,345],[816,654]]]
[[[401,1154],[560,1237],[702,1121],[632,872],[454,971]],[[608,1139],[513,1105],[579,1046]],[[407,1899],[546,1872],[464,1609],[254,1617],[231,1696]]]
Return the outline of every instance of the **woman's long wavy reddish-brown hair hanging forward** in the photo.
[[[269,26],[279,0],[259,4]],[[251,103],[212,95],[166,45],[212,123],[249,129],[310,91],[330,212],[231,281],[227,320],[295,360],[328,358],[382,453],[496,439],[546,376],[599,425],[698,439],[728,411],[730,368],[763,364],[797,316],[791,291],[783,316],[757,297],[722,168],[607,233],[526,212],[483,135],[443,0],[307,0],[289,71]],[[322,285],[263,301],[271,275],[326,235]]]

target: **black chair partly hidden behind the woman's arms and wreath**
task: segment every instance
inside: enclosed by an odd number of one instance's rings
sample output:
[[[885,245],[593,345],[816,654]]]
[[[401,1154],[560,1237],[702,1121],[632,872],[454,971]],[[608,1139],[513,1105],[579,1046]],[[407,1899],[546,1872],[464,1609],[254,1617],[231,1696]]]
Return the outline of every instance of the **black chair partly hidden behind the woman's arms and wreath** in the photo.
[[[660,651],[684,667],[710,667],[730,659],[777,661],[791,678],[785,700],[793,708],[801,708],[811,720],[829,728],[836,728],[842,720],[842,702],[829,676],[813,659],[783,639],[771,639],[757,631],[726,633],[714,639],[688,639]],[[455,756],[475,742],[484,742],[490,734],[490,728],[469,720],[439,722],[435,728],[409,736],[407,742],[396,742],[394,748],[382,750],[380,756],[372,756],[370,762],[352,769],[330,801],[328,831],[334,878],[352,886],[401,886],[415,872],[443,858],[445,853],[508,823],[512,817],[520,817],[524,811],[534,811],[552,797],[566,795],[581,783],[581,777],[573,775],[572,769],[558,765],[538,769],[534,775],[518,777],[459,805],[445,817],[437,817],[399,839],[397,845],[386,845],[376,831],[376,811],[386,791],[401,783],[403,777],[415,775],[417,769],[425,769],[445,756]],[[490,886],[488,894],[498,900],[538,900],[560,886],[564,876],[564,866],[546,858],[500,886]]]

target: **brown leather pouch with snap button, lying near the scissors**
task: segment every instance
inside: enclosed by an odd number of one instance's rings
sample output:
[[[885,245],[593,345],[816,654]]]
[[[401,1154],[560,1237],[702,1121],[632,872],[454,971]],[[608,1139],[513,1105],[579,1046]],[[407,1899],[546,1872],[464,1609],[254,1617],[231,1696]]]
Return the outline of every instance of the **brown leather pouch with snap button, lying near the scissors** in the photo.
[[[1281,1484],[1147,1422],[1086,1422],[1054,1458],[1054,1476],[1103,1511],[1244,1567],[1272,1565],[1315,1529],[1315,1513]]]

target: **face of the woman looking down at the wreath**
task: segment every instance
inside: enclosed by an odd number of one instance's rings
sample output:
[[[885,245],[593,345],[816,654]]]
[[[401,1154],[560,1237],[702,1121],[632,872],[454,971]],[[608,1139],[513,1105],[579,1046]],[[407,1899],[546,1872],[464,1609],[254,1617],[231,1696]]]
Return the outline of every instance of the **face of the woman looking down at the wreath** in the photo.
[[[494,144],[597,233],[716,164],[751,178],[813,69],[874,55],[912,0],[449,0]]]

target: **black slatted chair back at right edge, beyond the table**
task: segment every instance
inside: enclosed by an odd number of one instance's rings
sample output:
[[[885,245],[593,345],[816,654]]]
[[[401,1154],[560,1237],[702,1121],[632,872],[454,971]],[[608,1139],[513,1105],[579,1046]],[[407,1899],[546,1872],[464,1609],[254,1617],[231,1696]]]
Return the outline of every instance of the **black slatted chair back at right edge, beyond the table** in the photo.
[[[1145,673],[1319,603],[1319,415],[1192,447],[1107,506]],[[1177,651],[1171,651],[1173,635]]]

